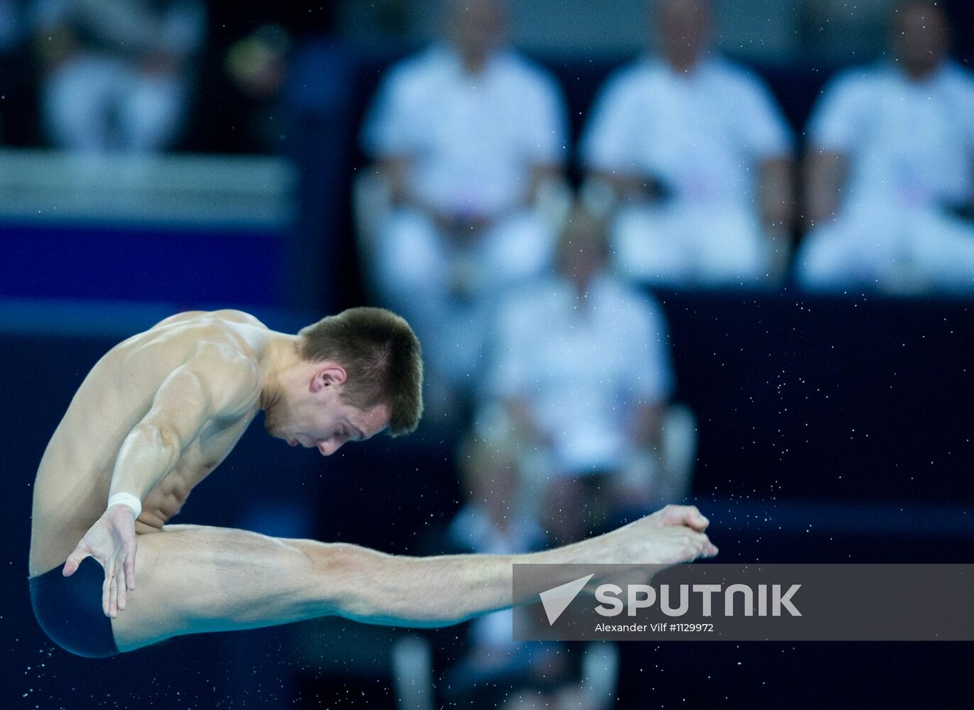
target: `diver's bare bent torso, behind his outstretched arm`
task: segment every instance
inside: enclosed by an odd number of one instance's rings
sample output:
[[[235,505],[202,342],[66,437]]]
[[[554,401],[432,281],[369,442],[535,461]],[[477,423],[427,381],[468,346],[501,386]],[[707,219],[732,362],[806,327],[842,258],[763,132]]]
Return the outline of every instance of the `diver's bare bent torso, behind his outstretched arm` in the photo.
[[[34,483],[29,575],[64,563],[105,510],[123,441],[145,416],[163,381],[202,344],[214,357],[256,363],[270,334],[240,311],[191,312],[166,318],[115,346],[92,368],[58,425]],[[260,387],[243,416],[214,420],[142,502],[136,534],[157,533],[193,488],[226,458],[259,409]]]

